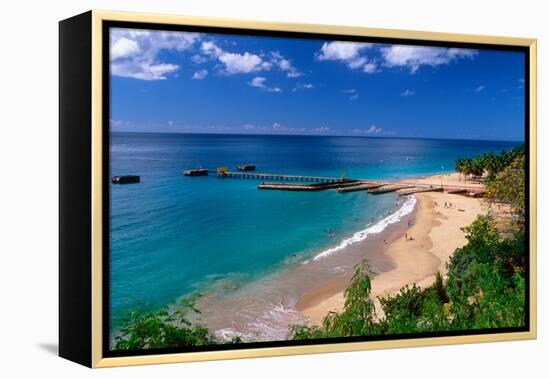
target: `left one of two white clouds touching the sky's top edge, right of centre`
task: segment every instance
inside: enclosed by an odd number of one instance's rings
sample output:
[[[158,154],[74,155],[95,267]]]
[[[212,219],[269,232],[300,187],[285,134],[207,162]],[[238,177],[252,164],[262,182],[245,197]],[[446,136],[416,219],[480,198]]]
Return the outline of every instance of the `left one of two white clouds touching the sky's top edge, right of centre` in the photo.
[[[317,60],[336,60],[345,63],[350,69],[362,69],[366,73],[377,72],[377,65],[361,55],[371,43],[360,42],[325,42],[317,54]]]

